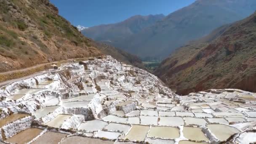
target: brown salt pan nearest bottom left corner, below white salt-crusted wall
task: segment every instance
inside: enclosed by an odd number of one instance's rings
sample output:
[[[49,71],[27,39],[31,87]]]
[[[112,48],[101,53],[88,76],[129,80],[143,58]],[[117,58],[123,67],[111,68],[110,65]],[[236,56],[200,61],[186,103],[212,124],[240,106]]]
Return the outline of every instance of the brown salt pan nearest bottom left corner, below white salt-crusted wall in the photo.
[[[28,128],[25,131],[21,131],[17,133],[16,135],[12,136],[9,139],[6,139],[6,142],[14,143],[14,144],[24,144],[32,139],[34,139],[36,136],[38,136],[43,130],[38,128]]]

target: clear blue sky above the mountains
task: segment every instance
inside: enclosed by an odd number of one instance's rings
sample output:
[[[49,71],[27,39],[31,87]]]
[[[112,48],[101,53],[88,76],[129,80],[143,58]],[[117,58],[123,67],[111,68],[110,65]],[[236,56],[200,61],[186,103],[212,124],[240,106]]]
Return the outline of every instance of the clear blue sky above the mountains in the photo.
[[[123,21],[134,15],[165,16],[195,0],[50,0],[73,25],[92,27]]]

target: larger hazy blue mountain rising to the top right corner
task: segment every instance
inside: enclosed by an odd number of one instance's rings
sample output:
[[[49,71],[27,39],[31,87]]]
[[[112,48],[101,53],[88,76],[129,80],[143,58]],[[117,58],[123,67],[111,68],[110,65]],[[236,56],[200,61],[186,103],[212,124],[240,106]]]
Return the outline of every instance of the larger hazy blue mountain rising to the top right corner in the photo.
[[[256,0],[197,0],[113,45],[141,58],[163,59],[188,41],[208,35],[224,24],[244,19],[255,10]],[[112,35],[115,34],[120,35],[112,30]],[[108,40],[107,36],[97,37]]]

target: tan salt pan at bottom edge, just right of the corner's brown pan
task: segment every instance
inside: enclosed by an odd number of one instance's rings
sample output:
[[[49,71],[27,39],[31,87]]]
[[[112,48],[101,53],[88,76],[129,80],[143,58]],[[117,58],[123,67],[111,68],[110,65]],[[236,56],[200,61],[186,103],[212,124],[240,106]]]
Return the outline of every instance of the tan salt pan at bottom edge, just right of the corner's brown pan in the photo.
[[[64,133],[46,132],[32,144],[58,144],[66,136]]]

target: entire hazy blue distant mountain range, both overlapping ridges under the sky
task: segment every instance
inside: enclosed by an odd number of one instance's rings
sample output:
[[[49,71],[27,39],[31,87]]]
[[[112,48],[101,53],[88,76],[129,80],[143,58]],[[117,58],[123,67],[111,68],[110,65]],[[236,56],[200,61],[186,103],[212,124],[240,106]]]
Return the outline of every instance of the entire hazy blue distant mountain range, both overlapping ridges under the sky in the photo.
[[[165,17],[133,16],[117,24],[90,27],[82,33],[141,58],[163,59],[190,40],[243,19],[255,10],[256,0],[197,0]]]

